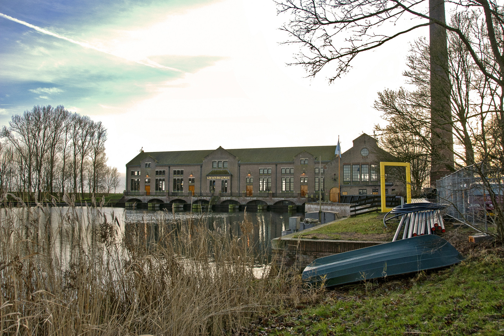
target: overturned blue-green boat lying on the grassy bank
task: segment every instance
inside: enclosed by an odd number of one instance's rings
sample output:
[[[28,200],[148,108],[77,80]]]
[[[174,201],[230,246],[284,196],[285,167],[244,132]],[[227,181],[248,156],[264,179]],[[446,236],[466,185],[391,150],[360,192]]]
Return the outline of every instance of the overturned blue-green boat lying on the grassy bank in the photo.
[[[463,260],[452,244],[422,235],[315,259],[302,278],[325,287],[445,267]]]

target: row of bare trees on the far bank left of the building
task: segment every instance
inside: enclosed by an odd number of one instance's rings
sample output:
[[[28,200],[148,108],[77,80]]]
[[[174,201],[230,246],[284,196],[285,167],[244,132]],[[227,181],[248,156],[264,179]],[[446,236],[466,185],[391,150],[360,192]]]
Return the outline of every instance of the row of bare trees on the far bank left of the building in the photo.
[[[107,130],[64,106],[34,106],[13,115],[0,131],[0,188],[29,200],[44,193],[110,192],[119,186],[117,168],[106,165]],[[35,195],[37,197],[35,197]]]

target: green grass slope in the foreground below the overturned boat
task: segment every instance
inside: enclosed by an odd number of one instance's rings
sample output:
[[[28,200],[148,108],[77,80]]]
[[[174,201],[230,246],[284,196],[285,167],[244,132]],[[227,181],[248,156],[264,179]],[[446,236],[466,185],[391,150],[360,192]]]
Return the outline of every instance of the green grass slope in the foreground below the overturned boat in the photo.
[[[474,254],[474,252],[472,252]],[[340,286],[323,304],[281,311],[251,334],[503,335],[504,250],[479,251],[459,265]],[[263,319],[262,321],[264,321]]]

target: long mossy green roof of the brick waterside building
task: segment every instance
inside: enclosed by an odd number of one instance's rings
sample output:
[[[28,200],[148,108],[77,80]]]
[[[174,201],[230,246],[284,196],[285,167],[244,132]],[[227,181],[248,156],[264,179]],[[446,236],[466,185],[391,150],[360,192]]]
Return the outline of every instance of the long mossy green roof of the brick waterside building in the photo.
[[[243,148],[228,149],[229,153],[236,156],[241,163],[245,162],[292,162],[294,157],[306,151],[315,157],[322,155],[323,161],[334,158],[334,146],[306,146],[306,147],[272,147],[272,148]],[[183,165],[203,163],[203,158],[215,150],[206,151],[177,151],[177,152],[141,152],[127,166],[140,165],[147,156],[157,160],[158,165]]]

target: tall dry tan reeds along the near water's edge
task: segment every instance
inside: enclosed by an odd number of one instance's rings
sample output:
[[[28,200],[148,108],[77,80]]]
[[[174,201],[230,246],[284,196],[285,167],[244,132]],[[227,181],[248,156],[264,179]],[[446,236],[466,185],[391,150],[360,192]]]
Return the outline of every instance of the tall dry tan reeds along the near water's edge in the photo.
[[[295,271],[254,274],[246,216],[231,237],[202,222],[121,228],[99,207],[15,210],[0,216],[0,334],[231,334],[319,295]]]

